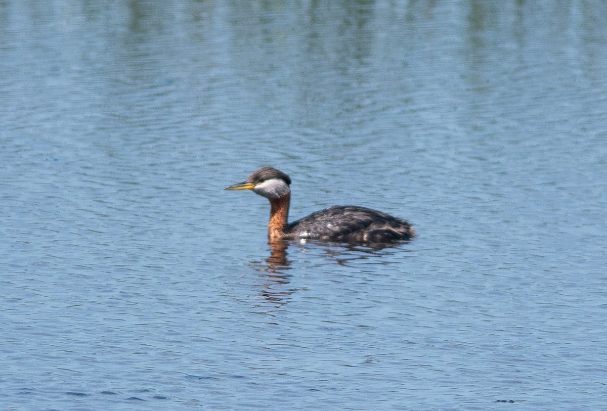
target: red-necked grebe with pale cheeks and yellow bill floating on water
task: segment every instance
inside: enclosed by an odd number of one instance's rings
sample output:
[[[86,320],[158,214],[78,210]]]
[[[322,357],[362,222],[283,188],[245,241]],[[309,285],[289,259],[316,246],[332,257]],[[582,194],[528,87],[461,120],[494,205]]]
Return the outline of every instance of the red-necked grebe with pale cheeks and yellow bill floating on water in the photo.
[[[270,242],[282,239],[310,238],[336,242],[389,243],[415,236],[407,221],[365,207],[334,205],[287,222],[291,204],[291,179],[273,167],[263,167],[248,179],[224,190],[253,190],[270,200]]]

